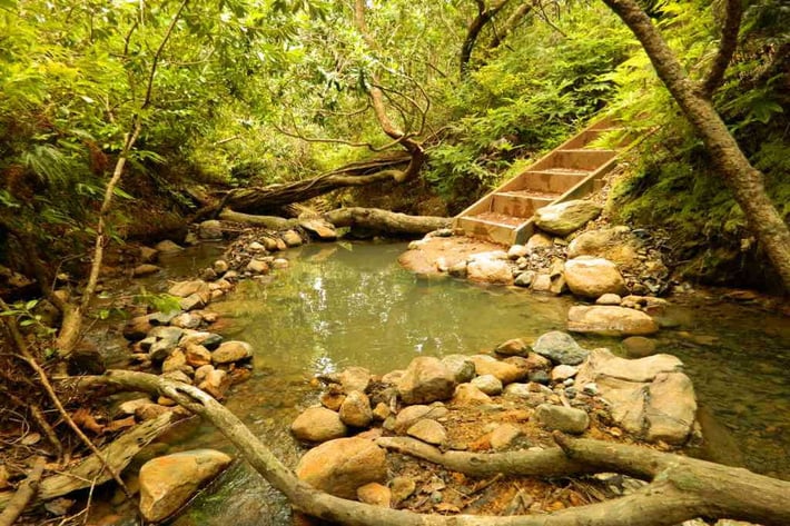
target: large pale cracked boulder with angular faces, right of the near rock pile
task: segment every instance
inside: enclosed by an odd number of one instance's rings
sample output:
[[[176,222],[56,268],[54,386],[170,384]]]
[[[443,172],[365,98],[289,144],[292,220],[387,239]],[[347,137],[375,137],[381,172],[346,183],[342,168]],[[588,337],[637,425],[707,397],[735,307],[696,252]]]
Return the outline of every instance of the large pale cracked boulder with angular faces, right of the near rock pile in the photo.
[[[671,355],[630,360],[594,349],[576,375],[576,385],[594,383],[623,429],[651,441],[683,444],[691,434],[697,400],[682,361]]]

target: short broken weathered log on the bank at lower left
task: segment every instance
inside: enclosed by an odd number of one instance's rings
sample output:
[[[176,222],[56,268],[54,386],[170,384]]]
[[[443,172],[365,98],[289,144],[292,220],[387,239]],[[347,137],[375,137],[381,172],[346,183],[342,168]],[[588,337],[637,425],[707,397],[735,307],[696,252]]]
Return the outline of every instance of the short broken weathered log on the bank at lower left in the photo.
[[[100,456],[90,455],[71,469],[45,478],[39,485],[36,502],[49,500],[78,489],[85,489],[92,484],[98,485],[110,480],[112,475],[106,466],[109,466],[115,473],[122,472],[135,455],[161,435],[175,419],[176,416],[172,411],[168,411],[157,418],[144,421],[121,435],[117,440],[102,447],[99,450]],[[13,492],[0,493],[0,509],[4,509],[9,505],[12,496]]]

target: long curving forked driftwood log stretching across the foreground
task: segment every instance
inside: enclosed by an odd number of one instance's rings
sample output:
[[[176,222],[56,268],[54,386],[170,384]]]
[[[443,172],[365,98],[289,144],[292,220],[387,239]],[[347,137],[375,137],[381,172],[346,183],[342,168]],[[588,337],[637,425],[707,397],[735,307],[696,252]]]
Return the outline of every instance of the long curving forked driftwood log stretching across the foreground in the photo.
[[[788,482],[649,448],[592,439],[571,439],[561,434],[555,435],[555,441],[569,459],[569,469],[574,473],[577,473],[577,466],[584,466],[592,470],[628,473],[652,482],[643,489],[625,497],[545,515],[437,516],[372,506],[334,497],[297,479],[294,473],[286,468],[233,413],[194,386],[126,370],[110,370],[100,377],[85,377],[79,380],[79,384],[82,388],[91,385],[112,385],[159,394],[175,400],[214,424],[239,449],[247,462],[280,490],[296,509],[339,524],[670,526],[700,516],[734,518],[767,526],[790,524],[790,504],[786,498],[790,495]],[[403,441],[397,444],[398,447],[408,447]],[[414,450],[425,450],[423,446],[419,445]],[[529,455],[530,451],[524,454]],[[434,451],[431,455],[433,458],[441,459],[443,454]],[[493,462],[496,462],[496,457],[493,458]],[[492,460],[486,460],[484,455],[468,457],[470,466],[488,462]],[[463,467],[463,463],[456,462],[454,469],[458,466]],[[498,468],[510,474],[507,463],[501,464]]]

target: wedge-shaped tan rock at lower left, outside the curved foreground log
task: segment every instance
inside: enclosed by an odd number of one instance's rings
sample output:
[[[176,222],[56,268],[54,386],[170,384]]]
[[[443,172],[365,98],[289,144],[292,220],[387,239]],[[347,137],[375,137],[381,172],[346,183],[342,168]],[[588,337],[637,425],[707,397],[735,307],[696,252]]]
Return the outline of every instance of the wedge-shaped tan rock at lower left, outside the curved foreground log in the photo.
[[[154,458],[140,468],[140,514],[158,523],[170,516],[233,459],[213,449],[194,449]]]

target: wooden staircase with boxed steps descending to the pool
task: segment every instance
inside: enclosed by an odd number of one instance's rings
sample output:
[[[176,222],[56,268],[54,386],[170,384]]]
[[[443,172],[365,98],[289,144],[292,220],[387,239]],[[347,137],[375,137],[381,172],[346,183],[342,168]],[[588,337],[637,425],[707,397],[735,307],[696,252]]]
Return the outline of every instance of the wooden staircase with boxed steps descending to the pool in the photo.
[[[468,237],[515,245],[534,234],[533,215],[546,205],[581,199],[603,186],[602,176],[616,163],[618,149],[590,148],[602,135],[622,130],[611,118],[589,126],[526,170],[462,211],[453,226]]]

